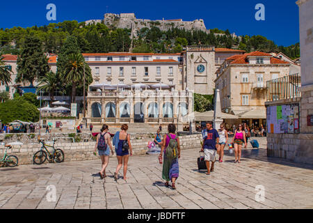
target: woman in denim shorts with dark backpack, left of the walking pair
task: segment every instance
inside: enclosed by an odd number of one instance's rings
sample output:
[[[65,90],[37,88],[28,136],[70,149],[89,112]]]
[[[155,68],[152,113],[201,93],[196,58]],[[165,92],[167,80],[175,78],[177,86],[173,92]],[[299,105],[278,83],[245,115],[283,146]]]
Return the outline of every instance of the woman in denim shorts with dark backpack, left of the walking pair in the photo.
[[[102,179],[106,177],[106,167],[109,164],[109,147],[111,148],[112,155],[114,154],[111,144],[111,135],[108,131],[109,126],[106,124],[102,125],[101,133],[97,135],[97,143],[95,144],[95,154],[98,149],[98,153],[102,161],[102,169],[99,171],[100,178]]]

